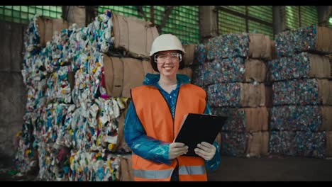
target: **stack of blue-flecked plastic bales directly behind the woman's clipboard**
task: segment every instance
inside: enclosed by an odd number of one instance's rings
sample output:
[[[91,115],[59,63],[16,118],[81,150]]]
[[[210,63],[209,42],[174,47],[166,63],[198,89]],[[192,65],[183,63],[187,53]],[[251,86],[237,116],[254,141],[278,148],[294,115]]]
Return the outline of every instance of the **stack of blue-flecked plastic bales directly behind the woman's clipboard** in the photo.
[[[221,154],[267,154],[266,62],[272,59],[272,46],[266,35],[234,33],[196,47],[193,82],[206,90],[213,114],[228,116],[221,129]]]

